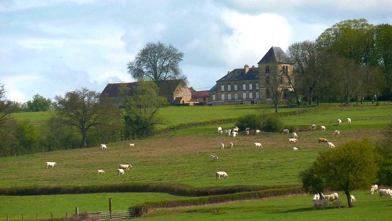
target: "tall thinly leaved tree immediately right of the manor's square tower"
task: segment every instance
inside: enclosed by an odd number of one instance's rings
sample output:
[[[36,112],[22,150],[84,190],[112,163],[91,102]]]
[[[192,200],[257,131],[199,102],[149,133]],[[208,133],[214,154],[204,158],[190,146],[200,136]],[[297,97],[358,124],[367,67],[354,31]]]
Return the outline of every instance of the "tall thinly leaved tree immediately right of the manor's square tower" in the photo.
[[[302,83],[301,86],[308,94],[309,105],[312,105],[313,92],[321,81],[323,76],[322,68],[325,67],[321,49],[317,46],[316,42],[306,40],[289,46],[287,54],[294,62],[295,82],[298,83],[296,87],[299,87],[299,82]]]

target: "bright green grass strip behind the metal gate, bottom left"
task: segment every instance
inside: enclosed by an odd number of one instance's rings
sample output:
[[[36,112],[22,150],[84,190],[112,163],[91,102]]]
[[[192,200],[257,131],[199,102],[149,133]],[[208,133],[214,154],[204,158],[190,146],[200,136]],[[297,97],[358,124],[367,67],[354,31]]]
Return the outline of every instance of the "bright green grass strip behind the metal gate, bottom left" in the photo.
[[[11,220],[34,219],[38,213],[39,219],[60,218],[72,216],[75,207],[82,212],[98,212],[109,210],[109,197],[112,198],[113,210],[124,210],[130,206],[144,201],[157,201],[166,199],[178,199],[181,196],[173,196],[164,193],[101,193],[101,194],[77,194],[77,195],[51,195],[51,196],[0,196],[0,220],[6,220],[8,214]]]

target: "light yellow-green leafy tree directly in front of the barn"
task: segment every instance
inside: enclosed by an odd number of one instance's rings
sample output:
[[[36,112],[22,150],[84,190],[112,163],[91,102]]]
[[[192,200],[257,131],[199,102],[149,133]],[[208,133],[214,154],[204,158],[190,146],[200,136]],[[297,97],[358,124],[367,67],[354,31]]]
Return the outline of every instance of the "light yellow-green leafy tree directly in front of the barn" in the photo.
[[[153,81],[139,80],[133,97],[124,98],[123,118],[127,135],[147,137],[154,133],[156,125],[166,123],[158,115],[158,110],[168,102],[165,97],[158,96],[158,91]]]

